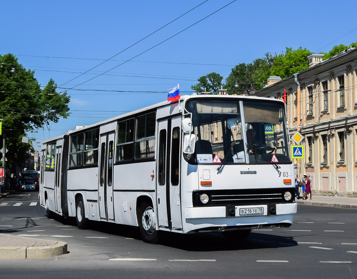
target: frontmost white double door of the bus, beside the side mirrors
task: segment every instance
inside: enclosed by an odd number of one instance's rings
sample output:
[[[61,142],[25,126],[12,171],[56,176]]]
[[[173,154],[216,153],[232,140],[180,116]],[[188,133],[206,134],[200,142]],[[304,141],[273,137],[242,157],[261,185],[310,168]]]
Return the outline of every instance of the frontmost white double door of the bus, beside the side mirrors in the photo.
[[[159,226],[182,229],[180,195],[181,117],[159,122],[156,202]]]

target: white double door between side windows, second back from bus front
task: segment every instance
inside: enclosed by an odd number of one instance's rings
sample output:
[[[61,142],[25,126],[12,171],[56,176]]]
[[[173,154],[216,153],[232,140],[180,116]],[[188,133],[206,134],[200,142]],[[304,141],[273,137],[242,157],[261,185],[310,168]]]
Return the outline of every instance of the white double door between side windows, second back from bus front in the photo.
[[[100,138],[99,160],[99,212],[100,218],[114,220],[113,201],[113,160],[114,133],[102,135]]]

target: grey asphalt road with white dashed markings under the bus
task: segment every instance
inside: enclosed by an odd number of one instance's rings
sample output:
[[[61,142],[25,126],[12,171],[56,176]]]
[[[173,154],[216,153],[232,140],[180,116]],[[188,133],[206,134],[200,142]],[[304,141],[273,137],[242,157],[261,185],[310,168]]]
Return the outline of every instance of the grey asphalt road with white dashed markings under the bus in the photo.
[[[0,200],[0,232],[68,243],[47,259],[1,260],[2,278],[357,278],[357,210],[298,206],[290,228],[252,231],[243,242],[220,233],[163,233],[147,244],[139,229],[72,218],[47,219],[38,193]]]

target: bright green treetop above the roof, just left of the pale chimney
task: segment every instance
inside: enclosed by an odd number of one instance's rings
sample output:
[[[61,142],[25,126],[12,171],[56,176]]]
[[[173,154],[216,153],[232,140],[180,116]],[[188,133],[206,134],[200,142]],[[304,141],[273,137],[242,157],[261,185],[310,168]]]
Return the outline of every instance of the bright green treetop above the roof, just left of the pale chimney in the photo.
[[[292,48],[287,47],[285,54],[275,57],[271,75],[284,79],[307,69],[309,67],[307,56],[311,53],[306,48],[299,47],[297,50],[292,50]]]

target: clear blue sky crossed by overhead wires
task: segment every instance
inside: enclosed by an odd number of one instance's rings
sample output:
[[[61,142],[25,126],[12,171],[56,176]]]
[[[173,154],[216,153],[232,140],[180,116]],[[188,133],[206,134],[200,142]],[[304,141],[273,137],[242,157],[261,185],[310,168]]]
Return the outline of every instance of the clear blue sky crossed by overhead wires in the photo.
[[[70,117],[50,130],[38,129],[37,141],[167,98],[167,93],[132,91],[165,92],[178,83],[181,95],[191,94],[198,77],[217,72],[226,78],[235,64],[250,63],[266,52],[300,46],[328,52],[334,45],[357,41],[357,26],[348,13],[356,10],[356,1],[340,5],[336,1],[237,0],[133,61],[88,81],[232,1],[208,0],[111,61],[70,81],[203,1],[2,2],[0,54],[16,55],[26,69],[35,70],[42,85],[53,78],[58,86],[86,90],[67,91],[71,95]]]

